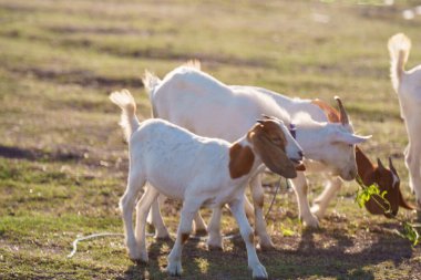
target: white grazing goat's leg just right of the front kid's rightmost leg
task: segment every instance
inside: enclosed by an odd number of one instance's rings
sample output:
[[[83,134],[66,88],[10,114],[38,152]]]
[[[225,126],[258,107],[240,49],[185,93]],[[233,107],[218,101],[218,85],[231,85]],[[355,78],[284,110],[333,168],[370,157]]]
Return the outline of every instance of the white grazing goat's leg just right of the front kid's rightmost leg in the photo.
[[[269,250],[274,248],[274,243],[271,242],[270,237],[266,231],[266,222],[265,222],[265,217],[264,217],[264,211],[263,211],[265,194],[261,187],[260,175],[256,175],[250,180],[250,188],[251,188],[253,203],[255,206],[256,234],[260,239],[260,248],[263,250]]]

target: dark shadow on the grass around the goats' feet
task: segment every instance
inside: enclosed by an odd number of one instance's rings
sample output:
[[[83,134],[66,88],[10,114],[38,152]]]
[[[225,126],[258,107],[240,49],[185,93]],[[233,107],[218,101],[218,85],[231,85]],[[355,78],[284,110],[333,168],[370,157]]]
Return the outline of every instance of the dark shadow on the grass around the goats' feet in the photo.
[[[372,266],[393,262],[398,267],[413,253],[411,245],[392,232],[369,234],[368,237],[359,232],[356,238],[348,236],[345,228],[307,229],[300,238],[283,237],[276,243],[292,246],[291,249],[278,246],[271,251],[258,252],[269,279],[374,279]],[[158,263],[160,258],[167,257],[173,245],[173,241],[154,240],[148,248],[150,263],[130,266],[124,279],[177,279],[168,277]],[[250,279],[243,239],[237,236],[224,245],[224,252],[208,251],[203,242],[189,239],[183,250],[182,279]],[[206,262],[206,269],[197,259]]]

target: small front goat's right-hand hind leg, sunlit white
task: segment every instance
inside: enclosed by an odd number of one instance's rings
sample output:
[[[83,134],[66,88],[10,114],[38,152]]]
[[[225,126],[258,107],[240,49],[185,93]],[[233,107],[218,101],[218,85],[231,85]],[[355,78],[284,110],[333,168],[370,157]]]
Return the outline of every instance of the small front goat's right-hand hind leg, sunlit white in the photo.
[[[160,193],[152,186],[147,186],[145,194],[136,205],[136,242],[140,249],[140,261],[147,262],[146,250],[146,218],[150,212],[151,205],[156,201]]]

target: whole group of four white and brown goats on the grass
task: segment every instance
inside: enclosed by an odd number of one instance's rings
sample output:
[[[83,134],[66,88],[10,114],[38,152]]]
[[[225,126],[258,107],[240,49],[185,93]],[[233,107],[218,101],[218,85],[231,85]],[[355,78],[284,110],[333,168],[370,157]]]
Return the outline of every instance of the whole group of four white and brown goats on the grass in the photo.
[[[410,186],[421,205],[421,65],[404,71],[411,43],[404,34],[389,40],[391,80],[398,93],[401,115],[409,136],[405,164]],[[271,172],[289,178],[299,204],[299,216],[309,227],[317,227],[341,179],[360,176],[366,185],[378,184],[387,190],[391,212],[368,201],[371,214],[396,215],[404,201],[400,179],[389,157],[389,168],[378,159],[373,165],[356,146],[370,136],[353,133],[350,118],[339,97],[339,112],[320,100],[300,100],[245,85],[226,85],[188,62],[163,80],[146,72],[143,80],[152,103],[154,118],[140,122],[129,91],[114,92],[110,98],[123,113],[121,125],[130,148],[127,188],[121,198],[125,242],[132,260],[147,261],[145,225],[147,214],[156,237],[168,237],[160,212],[165,197],[183,200],[174,247],[167,272],[182,272],[182,249],[192,231],[207,231],[207,245],[222,248],[220,216],[228,205],[246,243],[253,277],[267,279],[255,249],[255,234],[261,248],[274,245],[266,231],[263,215],[261,173]],[[257,120],[257,121],[256,121]],[[201,136],[198,136],[201,135]],[[307,198],[307,172],[322,173],[328,184],[310,208]],[[136,205],[136,224],[132,214],[136,197],[148,183]],[[250,186],[253,206],[245,196]],[[213,209],[206,227],[198,210]],[[255,216],[255,234],[246,212]]]

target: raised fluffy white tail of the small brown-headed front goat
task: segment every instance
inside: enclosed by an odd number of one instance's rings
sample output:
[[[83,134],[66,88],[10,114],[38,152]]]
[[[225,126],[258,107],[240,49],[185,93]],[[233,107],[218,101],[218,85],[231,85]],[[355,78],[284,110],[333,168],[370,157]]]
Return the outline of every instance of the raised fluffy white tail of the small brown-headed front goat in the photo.
[[[136,116],[136,103],[127,90],[113,92],[110,100],[122,110],[120,125],[123,127],[124,137],[129,142],[130,136],[141,125]]]

